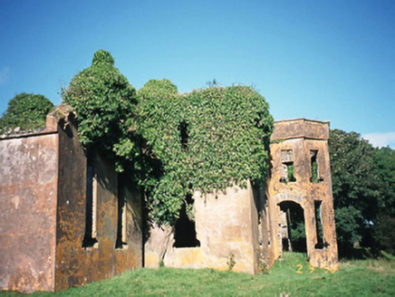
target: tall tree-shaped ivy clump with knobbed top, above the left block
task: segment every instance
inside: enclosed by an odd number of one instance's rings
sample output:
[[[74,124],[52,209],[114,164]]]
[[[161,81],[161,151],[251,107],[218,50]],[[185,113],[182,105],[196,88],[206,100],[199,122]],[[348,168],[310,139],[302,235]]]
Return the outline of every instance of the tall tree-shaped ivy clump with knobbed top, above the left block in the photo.
[[[79,72],[63,90],[63,101],[77,113],[84,148],[98,148],[113,159],[119,171],[140,158],[134,119],[136,91],[114,67],[111,54],[98,51],[92,66]],[[133,162],[137,166],[137,162]],[[130,165],[132,166],[132,165]]]

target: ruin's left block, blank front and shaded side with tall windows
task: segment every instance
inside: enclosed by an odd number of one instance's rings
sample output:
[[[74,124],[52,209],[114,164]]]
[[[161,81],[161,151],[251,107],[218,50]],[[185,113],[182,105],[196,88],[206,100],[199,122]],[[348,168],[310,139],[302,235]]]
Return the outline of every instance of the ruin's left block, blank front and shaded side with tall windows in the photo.
[[[57,291],[140,267],[141,200],[68,119],[0,139],[0,290]]]

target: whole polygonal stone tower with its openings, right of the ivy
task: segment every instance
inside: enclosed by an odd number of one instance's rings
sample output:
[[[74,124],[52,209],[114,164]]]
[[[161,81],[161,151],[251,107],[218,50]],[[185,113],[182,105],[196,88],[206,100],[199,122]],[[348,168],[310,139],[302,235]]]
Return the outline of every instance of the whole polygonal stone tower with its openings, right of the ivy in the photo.
[[[283,251],[300,251],[313,266],[337,270],[328,139],[329,122],[275,122],[266,204],[271,263]]]

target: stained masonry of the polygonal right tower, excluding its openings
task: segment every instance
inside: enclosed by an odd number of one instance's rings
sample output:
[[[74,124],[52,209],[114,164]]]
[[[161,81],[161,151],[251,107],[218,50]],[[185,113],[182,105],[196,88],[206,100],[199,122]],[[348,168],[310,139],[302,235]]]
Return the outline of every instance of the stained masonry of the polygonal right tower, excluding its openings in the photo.
[[[337,243],[332,204],[332,179],[328,150],[329,123],[315,120],[284,120],[275,122],[272,135],[271,177],[268,182],[268,215],[271,262],[283,252],[281,210],[279,204],[293,201],[303,208],[307,254],[316,267],[336,270]],[[284,178],[282,150],[292,150],[296,181],[281,182]],[[318,150],[319,182],[313,183],[311,151]],[[322,201],[323,237],[326,247],[316,248],[317,232],[314,201]]]

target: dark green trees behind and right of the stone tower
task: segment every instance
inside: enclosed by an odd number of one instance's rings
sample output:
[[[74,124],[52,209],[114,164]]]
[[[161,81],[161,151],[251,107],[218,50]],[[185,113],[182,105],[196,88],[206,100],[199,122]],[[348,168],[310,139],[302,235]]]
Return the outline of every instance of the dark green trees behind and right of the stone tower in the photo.
[[[395,151],[372,148],[360,135],[333,129],[333,204],[341,252],[355,243],[395,252]]]

